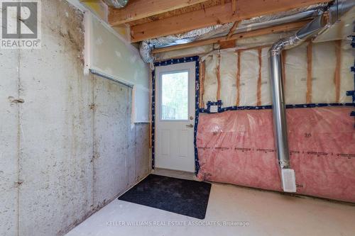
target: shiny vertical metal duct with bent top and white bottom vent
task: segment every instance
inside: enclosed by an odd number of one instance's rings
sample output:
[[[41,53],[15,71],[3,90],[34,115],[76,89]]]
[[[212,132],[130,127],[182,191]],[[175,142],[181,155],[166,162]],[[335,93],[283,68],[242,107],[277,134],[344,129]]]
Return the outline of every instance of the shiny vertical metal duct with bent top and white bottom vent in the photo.
[[[329,8],[329,11],[327,11],[327,17],[324,13],[322,13],[322,15],[317,16],[317,18],[308,23],[305,27],[298,30],[295,35],[292,35],[289,38],[283,38],[277,43],[274,43],[271,49],[269,50],[270,78],[273,95],[273,123],[275,130],[275,145],[277,147],[278,162],[280,165],[281,180],[283,182],[282,184],[284,191],[289,191],[289,189],[293,189],[292,191],[295,191],[295,183],[292,183],[294,185],[294,188],[288,188],[287,186],[288,184],[290,184],[290,179],[286,179],[283,172],[283,170],[290,169],[290,156],[288,149],[288,133],[285,116],[285,96],[283,94],[284,90],[281,52],[285,49],[296,47],[308,38],[317,35],[323,30],[329,28],[329,25],[334,23],[332,22],[332,20],[329,20],[329,16],[334,15],[334,11],[337,11],[338,16],[340,13],[346,12],[339,11],[339,6],[343,5],[331,6]],[[344,6],[346,6],[346,4],[344,4]],[[295,179],[294,172],[293,179]]]

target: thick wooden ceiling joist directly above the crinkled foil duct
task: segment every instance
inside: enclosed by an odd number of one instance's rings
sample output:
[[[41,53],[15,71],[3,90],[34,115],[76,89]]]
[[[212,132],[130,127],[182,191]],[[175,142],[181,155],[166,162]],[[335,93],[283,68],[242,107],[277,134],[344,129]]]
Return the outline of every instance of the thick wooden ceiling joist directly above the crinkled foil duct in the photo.
[[[262,16],[278,11],[286,11],[311,4],[327,2],[324,0],[238,0],[236,13],[231,11],[231,2],[213,6],[199,11],[183,13],[178,16],[164,18],[158,21],[143,23],[131,27],[132,42],[149,38],[183,33],[196,28],[204,28],[222,23],[242,21],[255,16]],[[148,5],[147,5],[148,6]]]

